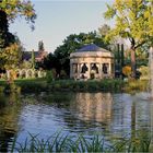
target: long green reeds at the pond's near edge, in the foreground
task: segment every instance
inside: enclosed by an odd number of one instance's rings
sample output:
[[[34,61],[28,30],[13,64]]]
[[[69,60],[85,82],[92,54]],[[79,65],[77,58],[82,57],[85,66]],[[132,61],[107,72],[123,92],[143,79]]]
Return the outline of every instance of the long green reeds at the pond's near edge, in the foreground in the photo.
[[[98,134],[87,139],[84,136],[70,137],[57,132],[43,140],[37,136],[30,134],[24,143],[17,142],[14,139],[11,145],[11,152],[151,152],[151,137],[148,131],[134,132],[136,136],[129,134],[128,137],[119,140],[106,140]],[[2,144],[1,144],[2,145]]]

